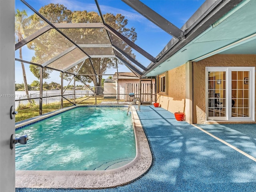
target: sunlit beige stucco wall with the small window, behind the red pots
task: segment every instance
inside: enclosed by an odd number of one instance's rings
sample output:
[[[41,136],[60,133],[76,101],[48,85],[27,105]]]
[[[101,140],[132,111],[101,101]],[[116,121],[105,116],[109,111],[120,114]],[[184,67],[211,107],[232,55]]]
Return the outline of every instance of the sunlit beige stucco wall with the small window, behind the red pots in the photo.
[[[157,94],[161,107],[174,113],[185,112],[186,65],[168,71],[168,95]]]

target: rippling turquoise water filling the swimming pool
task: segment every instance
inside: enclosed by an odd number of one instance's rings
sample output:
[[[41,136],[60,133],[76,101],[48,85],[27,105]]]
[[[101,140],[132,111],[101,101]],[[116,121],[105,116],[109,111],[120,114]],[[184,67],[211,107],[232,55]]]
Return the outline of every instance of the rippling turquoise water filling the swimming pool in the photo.
[[[78,107],[16,131],[16,170],[105,170],[136,156],[127,108]]]

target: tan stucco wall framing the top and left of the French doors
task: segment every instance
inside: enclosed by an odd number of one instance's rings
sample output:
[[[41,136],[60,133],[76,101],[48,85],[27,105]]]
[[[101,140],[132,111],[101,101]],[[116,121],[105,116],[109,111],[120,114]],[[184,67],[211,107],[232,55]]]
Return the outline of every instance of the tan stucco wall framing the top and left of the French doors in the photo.
[[[193,123],[204,124],[206,121],[205,68],[216,66],[256,66],[256,55],[217,54],[193,63]]]

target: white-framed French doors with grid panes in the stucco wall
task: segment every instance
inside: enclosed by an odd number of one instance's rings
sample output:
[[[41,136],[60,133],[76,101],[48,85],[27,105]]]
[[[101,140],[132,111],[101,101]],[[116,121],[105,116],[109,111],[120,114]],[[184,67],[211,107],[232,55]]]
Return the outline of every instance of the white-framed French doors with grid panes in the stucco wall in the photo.
[[[206,120],[255,120],[255,68],[206,67]]]

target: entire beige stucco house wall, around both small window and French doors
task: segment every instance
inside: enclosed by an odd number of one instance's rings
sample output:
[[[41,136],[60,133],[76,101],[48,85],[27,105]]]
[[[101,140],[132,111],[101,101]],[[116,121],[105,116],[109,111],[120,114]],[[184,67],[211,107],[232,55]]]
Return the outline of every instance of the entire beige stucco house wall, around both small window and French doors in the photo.
[[[217,54],[193,62],[193,123],[206,123],[206,67],[232,66],[255,67],[255,55]],[[168,71],[168,94],[157,93],[160,106],[172,113],[185,112],[186,107],[186,65]],[[188,104],[187,104],[188,105]],[[185,114],[186,115],[186,114]],[[233,122],[235,123],[235,122]]]

